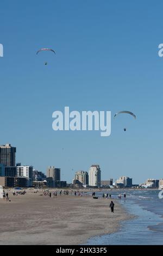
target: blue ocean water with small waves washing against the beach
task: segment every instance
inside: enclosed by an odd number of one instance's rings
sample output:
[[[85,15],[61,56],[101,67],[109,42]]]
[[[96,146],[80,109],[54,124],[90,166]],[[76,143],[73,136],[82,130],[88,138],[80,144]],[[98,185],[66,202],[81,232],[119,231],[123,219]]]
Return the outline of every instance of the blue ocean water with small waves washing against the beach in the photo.
[[[103,192],[96,194],[101,197]],[[112,199],[120,193],[120,203],[136,217],[122,221],[115,233],[92,237],[87,245],[163,245],[163,199],[158,197],[159,190],[111,191]]]

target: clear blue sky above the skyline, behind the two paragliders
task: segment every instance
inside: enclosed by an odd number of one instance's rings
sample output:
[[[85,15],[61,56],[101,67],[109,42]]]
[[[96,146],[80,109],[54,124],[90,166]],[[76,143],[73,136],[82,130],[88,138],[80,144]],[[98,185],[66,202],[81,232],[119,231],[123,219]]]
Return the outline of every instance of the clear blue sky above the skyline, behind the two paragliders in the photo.
[[[17,162],[76,170],[99,164],[102,179],[163,178],[162,1],[1,1],[0,144]],[[51,47],[53,53],[36,51]],[[44,61],[48,65],[44,65]],[[52,113],[111,111],[111,136],[53,131]],[[113,115],[129,110],[137,119]],[[127,127],[127,131],[123,131]]]

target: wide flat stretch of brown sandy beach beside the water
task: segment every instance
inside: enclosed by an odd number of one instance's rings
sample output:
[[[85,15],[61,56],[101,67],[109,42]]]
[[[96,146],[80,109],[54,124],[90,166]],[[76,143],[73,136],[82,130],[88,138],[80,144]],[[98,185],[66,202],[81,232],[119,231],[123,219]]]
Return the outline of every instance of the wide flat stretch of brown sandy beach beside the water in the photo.
[[[114,199],[91,196],[49,198],[27,190],[12,196],[11,202],[0,200],[0,245],[79,245],[89,237],[108,234],[130,216]]]

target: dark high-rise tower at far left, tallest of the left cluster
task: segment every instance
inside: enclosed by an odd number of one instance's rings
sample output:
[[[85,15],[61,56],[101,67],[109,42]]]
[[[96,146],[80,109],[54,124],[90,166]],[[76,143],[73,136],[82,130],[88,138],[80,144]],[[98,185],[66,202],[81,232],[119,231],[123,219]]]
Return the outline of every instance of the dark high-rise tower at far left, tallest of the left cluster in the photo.
[[[4,166],[15,166],[16,147],[11,144],[0,145],[0,163]]]

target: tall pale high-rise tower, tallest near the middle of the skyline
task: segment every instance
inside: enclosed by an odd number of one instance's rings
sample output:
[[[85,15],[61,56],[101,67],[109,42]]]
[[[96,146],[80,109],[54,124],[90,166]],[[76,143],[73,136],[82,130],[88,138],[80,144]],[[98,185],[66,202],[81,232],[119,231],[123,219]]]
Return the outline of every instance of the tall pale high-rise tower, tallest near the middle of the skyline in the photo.
[[[89,185],[101,186],[101,169],[98,164],[92,164],[89,169]]]

